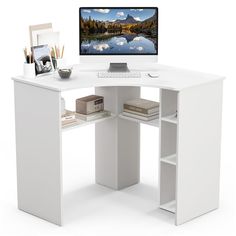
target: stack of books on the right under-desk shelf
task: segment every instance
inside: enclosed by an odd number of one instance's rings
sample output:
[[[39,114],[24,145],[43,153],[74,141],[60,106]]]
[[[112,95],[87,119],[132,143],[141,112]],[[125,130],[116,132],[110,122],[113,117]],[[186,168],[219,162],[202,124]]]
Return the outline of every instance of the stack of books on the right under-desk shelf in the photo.
[[[123,105],[123,115],[149,121],[159,118],[159,102],[142,98],[130,100]]]

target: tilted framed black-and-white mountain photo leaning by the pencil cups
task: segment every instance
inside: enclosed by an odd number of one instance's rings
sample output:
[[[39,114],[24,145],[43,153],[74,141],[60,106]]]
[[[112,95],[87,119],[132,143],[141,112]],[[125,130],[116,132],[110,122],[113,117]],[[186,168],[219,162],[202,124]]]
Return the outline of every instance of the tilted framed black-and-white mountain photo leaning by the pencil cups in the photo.
[[[31,50],[34,57],[36,75],[54,72],[51,51],[48,45],[33,46]]]

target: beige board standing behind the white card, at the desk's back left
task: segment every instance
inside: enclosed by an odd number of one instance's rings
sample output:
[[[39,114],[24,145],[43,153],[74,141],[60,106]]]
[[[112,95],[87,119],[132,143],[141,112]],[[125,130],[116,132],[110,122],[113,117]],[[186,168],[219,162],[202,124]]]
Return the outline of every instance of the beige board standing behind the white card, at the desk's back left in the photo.
[[[53,32],[52,23],[30,25],[30,45],[31,47],[38,46],[38,34]]]

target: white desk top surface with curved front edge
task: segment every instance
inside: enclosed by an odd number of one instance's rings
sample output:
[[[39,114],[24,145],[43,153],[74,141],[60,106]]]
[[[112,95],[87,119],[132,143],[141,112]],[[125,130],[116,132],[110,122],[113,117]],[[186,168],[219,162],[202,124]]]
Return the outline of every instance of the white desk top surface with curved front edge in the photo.
[[[99,67],[91,66],[91,68],[89,68],[89,66],[87,66],[86,68],[84,65],[75,65],[73,66],[71,78],[67,80],[60,79],[57,72],[30,79],[23,76],[16,76],[12,79],[17,82],[61,92],[102,86],[141,86],[180,91],[185,88],[224,79],[223,76],[178,69],[159,64],[149,65],[149,67],[147,66],[142,70],[140,69],[141,78],[98,78],[97,73],[99,71],[104,70],[99,69]],[[150,78],[147,75],[148,73],[157,73],[159,77]]]

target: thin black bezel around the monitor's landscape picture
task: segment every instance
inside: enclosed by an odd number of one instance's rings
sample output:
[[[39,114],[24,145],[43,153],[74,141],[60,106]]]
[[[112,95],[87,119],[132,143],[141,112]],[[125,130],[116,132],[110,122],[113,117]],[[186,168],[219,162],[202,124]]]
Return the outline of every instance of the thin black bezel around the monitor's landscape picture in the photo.
[[[157,24],[156,24],[156,30],[157,30],[157,37],[156,37],[156,43],[157,43],[157,50],[156,53],[109,53],[109,54],[96,54],[96,53],[89,53],[89,54],[82,54],[81,53],[81,34],[80,34],[80,28],[81,28],[81,11],[84,9],[155,9],[157,12]],[[157,56],[158,55],[158,28],[159,28],[159,21],[158,21],[158,7],[80,7],[79,8],[79,55],[80,56]]]

